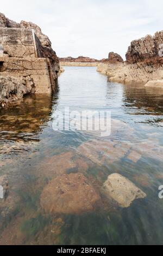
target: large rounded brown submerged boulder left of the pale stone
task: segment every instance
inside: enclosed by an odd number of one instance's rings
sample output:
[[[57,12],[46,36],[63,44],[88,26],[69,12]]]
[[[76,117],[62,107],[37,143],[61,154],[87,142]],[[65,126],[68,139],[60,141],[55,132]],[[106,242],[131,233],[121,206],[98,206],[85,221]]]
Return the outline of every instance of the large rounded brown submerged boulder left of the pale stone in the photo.
[[[83,174],[61,175],[44,188],[40,203],[47,214],[83,214],[101,206],[101,198]]]

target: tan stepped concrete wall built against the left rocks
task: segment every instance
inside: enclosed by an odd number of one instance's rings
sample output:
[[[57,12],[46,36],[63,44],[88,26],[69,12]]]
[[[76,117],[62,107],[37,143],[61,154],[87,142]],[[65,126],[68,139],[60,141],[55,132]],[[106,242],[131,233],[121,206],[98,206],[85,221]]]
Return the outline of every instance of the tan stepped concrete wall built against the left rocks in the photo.
[[[0,28],[0,75],[29,77],[36,94],[55,90],[55,74],[34,29]]]

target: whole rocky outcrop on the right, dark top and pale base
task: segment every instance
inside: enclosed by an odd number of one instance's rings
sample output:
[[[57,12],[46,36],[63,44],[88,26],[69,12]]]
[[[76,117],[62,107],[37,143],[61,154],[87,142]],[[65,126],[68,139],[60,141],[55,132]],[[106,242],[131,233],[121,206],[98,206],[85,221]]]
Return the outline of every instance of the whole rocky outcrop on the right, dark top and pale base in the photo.
[[[97,71],[117,82],[162,80],[162,44],[163,31],[134,40],[128,47],[126,61],[117,53],[110,53],[108,59],[98,64]]]

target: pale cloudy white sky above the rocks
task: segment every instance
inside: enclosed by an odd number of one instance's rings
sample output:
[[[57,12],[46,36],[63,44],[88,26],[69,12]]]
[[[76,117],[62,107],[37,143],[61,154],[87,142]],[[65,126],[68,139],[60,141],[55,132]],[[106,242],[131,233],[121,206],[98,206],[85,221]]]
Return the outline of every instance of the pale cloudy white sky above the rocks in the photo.
[[[39,25],[59,57],[125,59],[132,40],[163,30],[162,9],[162,0],[8,0],[0,12]]]

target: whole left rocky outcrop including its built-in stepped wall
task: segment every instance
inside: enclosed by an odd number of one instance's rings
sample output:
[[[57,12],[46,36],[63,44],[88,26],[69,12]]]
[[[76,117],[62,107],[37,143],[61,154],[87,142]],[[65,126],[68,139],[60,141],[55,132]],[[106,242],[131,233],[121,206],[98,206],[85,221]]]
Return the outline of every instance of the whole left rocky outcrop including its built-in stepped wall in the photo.
[[[51,94],[57,86],[55,80],[59,69],[59,60],[52,49],[51,41],[41,32],[40,27],[32,22],[16,23],[0,13],[0,75],[3,101],[12,102],[26,93]],[[13,94],[13,84],[16,80],[17,87],[14,88]],[[7,88],[4,88],[6,86]]]

